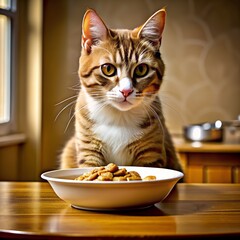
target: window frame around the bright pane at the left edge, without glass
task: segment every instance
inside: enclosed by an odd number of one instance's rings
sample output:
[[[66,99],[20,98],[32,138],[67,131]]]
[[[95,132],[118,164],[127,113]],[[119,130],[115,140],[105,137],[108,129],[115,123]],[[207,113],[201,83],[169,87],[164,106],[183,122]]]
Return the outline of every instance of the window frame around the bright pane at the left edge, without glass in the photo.
[[[10,0],[8,9],[0,8],[0,15],[4,15],[10,20],[10,60],[9,60],[9,93],[10,93],[10,111],[9,121],[0,123],[0,136],[15,133],[17,131],[16,119],[16,70],[17,70],[17,0]]]

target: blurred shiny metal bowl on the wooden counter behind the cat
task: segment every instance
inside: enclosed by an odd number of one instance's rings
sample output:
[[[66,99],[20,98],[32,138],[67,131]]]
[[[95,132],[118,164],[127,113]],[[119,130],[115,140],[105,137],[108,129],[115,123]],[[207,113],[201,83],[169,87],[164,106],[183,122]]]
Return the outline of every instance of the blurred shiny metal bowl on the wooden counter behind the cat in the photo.
[[[220,120],[210,123],[191,124],[183,127],[187,141],[221,142],[223,139],[223,124]]]

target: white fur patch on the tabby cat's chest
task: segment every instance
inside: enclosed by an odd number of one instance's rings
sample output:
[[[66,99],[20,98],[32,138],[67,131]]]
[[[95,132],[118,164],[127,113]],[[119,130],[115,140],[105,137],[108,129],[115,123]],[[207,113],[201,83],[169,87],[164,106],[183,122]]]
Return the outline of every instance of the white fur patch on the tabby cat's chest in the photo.
[[[89,111],[95,122],[93,131],[106,146],[104,155],[107,161],[117,165],[131,165],[132,156],[127,146],[143,134],[138,127],[142,114],[136,111],[121,112],[107,107],[99,108],[96,102],[89,105]]]

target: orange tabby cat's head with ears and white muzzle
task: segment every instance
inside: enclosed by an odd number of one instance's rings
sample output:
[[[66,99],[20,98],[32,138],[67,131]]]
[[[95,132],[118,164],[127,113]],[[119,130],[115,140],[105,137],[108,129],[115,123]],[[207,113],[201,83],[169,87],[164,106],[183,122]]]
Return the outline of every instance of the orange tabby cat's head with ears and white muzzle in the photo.
[[[112,30],[94,10],[85,13],[79,76],[91,100],[128,111],[155,99],[164,73],[165,15],[161,9],[138,28]]]

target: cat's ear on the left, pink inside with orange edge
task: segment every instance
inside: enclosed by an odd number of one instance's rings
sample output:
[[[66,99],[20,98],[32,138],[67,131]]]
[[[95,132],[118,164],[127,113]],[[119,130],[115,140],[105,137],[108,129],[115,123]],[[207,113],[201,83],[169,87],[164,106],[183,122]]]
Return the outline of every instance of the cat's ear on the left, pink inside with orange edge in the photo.
[[[104,41],[108,35],[108,28],[103,20],[93,9],[88,9],[83,17],[82,22],[82,47],[91,53],[93,45],[99,41]]]

